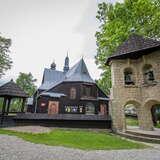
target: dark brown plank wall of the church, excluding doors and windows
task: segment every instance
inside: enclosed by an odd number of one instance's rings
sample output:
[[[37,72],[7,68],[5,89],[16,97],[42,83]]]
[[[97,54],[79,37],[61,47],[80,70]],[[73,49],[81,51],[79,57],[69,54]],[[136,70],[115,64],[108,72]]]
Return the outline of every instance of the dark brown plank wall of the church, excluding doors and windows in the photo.
[[[95,101],[95,100],[81,100],[82,98],[82,85],[84,83],[82,82],[64,82],[61,83],[59,85],[57,85],[56,87],[52,88],[49,90],[49,92],[56,92],[56,93],[63,93],[66,95],[66,97],[61,97],[60,99],[55,99],[55,98],[49,98],[49,97],[40,97],[38,100],[38,109],[37,112],[39,113],[47,113],[47,109],[48,109],[48,102],[49,101],[58,101],[59,102],[59,113],[66,113],[65,112],[65,106],[83,106],[85,107],[87,103],[93,103],[95,106],[95,114],[98,114],[100,111],[100,104],[106,104],[107,106],[107,111],[108,111],[108,102],[106,101]],[[86,84],[86,83],[85,83]],[[102,94],[99,91],[99,88],[97,88],[97,86],[95,84],[91,85],[95,90],[97,90],[97,93],[95,94],[95,99],[97,99],[97,96],[102,96],[104,97],[104,94]],[[76,89],[76,98],[75,99],[71,99],[70,98],[70,89],[71,88],[75,88]],[[98,93],[101,93],[100,95],[98,95]],[[40,107],[41,103],[45,103],[46,105],[44,107]],[[41,109],[43,108],[43,109]],[[85,109],[83,109],[83,113],[80,114],[84,114],[85,113]],[[108,112],[107,112],[108,113]]]

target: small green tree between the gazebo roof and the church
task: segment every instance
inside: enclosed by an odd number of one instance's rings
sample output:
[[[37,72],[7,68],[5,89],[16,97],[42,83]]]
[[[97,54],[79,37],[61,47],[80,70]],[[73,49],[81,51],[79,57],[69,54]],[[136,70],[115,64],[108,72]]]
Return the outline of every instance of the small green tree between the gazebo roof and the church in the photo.
[[[36,91],[37,87],[35,85],[35,82],[37,79],[33,78],[33,75],[31,73],[22,73],[20,72],[16,83],[29,95],[32,96],[34,92]]]

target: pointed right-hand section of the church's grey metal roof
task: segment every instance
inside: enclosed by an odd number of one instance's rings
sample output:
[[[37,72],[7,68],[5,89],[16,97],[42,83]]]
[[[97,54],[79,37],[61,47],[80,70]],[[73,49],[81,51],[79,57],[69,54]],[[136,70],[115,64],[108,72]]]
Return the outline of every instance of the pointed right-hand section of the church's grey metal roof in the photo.
[[[65,81],[95,83],[88,72],[83,58],[66,73]]]

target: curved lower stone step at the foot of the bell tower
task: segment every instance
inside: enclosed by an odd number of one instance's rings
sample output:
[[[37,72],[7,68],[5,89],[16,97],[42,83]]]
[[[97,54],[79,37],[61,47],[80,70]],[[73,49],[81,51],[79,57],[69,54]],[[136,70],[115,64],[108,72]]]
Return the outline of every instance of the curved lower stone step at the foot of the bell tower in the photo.
[[[136,140],[136,141],[160,144],[160,139],[159,138],[144,137],[144,136],[140,136],[140,135],[138,136],[138,135],[129,134],[129,133],[125,133],[125,132],[118,132],[117,134],[122,136],[122,137],[132,139],[132,140]]]

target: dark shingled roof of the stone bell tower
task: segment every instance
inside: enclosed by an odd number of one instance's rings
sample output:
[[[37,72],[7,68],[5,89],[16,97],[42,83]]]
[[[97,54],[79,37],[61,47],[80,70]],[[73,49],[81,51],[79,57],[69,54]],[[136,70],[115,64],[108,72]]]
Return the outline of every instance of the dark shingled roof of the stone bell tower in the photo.
[[[160,41],[132,34],[117,48],[116,52],[107,59],[107,64],[109,64],[112,59],[136,59],[157,49],[160,49]]]

